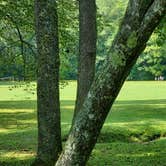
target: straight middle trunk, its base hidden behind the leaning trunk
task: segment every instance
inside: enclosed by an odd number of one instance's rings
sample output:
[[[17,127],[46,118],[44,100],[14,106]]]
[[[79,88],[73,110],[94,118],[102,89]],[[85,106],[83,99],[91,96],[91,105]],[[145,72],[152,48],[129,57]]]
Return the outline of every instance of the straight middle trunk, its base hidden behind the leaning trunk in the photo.
[[[96,0],[79,1],[79,57],[77,78],[77,99],[73,123],[85,97],[88,94],[95,75],[96,61]]]

